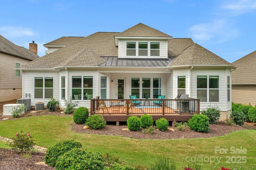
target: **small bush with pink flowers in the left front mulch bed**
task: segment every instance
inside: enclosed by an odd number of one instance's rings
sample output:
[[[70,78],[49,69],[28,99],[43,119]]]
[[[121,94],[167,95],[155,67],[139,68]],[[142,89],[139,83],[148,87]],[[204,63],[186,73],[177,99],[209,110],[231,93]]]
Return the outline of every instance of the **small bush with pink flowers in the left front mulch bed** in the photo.
[[[9,146],[12,149],[20,150],[20,152],[29,151],[33,149],[35,139],[32,139],[33,137],[30,133],[24,134],[22,132],[21,130],[20,133],[15,134],[16,136],[12,138],[12,141],[9,141]]]

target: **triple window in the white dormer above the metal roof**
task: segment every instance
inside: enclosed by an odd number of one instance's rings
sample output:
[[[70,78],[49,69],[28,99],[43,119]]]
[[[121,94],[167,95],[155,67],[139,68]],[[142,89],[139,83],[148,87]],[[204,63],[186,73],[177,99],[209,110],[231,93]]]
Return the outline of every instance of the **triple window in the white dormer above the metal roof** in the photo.
[[[126,42],[126,56],[160,56],[160,42]]]

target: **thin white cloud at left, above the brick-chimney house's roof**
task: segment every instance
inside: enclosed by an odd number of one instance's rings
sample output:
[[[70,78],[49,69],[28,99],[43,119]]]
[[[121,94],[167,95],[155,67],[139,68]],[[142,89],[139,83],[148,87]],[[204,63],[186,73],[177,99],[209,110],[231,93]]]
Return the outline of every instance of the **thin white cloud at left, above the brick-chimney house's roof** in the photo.
[[[30,28],[17,26],[2,26],[0,27],[0,34],[3,37],[23,37],[36,35],[36,33]]]

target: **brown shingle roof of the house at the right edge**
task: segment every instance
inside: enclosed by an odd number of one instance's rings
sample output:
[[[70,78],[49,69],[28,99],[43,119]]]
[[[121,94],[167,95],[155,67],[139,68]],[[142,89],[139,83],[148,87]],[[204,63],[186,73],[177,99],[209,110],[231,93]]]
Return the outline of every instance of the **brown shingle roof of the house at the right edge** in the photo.
[[[256,51],[234,61],[237,68],[232,71],[232,84],[255,84]]]

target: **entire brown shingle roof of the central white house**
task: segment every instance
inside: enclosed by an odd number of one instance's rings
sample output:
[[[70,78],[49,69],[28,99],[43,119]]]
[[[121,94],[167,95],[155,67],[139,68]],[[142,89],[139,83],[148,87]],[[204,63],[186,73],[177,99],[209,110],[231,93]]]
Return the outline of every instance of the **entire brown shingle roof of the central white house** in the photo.
[[[142,31],[139,29],[141,28]],[[149,32],[147,32],[147,30]],[[134,32],[134,33],[133,33]],[[141,34],[140,34],[141,33]],[[97,32],[88,37],[62,37],[56,42],[68,42],[69,44],[61,49],[49,53],[36,59],[22,69],[52,69],[61,67],[88,67],[88,66],[180,66],[180,65],[232,65],[214,53],[194,44],[190,38],[175,38],[168,40],[168,59],[154,60],[131,60],[118,59],[118,47],[115,45],[114,37],[122,36],[166,36],[156,29],[148,27],[142,23],[123,31],[116,32]],[[62,40],[61,40],[62,39]],[[174,59],[175,57],[175,59]],[[172,59],[174,59],[172,61]]]

